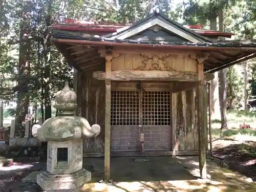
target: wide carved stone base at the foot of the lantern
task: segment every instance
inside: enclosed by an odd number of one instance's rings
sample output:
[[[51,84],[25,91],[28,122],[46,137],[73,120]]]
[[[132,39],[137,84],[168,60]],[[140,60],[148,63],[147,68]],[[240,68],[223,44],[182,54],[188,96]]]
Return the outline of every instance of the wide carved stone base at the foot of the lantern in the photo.
[[[37,175],[37,184],[45,191],[78,191],[84,183],[91,181],[91,172],[82,168],[72,174],[50,174],[40,172]]]

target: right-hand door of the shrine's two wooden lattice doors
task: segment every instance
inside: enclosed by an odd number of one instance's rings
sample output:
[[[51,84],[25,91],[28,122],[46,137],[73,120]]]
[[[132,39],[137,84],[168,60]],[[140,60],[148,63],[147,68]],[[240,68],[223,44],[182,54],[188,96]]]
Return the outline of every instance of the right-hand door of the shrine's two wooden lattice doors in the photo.
[[[142,120],[145,151],[170,150],[170,109],[170,92],[144,92]]]

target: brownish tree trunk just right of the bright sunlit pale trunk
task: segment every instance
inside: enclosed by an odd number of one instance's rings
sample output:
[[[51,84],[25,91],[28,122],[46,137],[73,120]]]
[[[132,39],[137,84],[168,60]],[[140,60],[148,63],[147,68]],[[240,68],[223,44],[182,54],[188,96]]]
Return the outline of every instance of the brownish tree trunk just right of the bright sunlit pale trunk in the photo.
[[[223,10],[219,10],[219,31],[224,32]],[[220,37],[220,39],[222,39]],[[221,112],[221,129],[227,129],[227,69],[220,70],[219,76],[219,100]]]

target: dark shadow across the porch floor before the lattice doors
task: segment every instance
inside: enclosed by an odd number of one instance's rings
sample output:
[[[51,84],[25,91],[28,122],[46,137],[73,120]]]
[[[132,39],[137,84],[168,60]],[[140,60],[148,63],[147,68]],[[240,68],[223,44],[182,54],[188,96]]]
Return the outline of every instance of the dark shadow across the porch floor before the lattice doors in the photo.
[[[92,172],[93,182],[103,179],[103,158],[85,159],[84,168]],[[172,157],[113,157],[111,176],[117,182],[197,179]]]

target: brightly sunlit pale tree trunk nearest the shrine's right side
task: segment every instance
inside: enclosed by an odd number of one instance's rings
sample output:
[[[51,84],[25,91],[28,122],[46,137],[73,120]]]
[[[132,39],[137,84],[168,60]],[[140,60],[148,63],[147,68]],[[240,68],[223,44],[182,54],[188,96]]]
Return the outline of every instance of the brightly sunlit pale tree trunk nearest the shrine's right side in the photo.
[[[217,17],[210,18],[210,29],[216,30]],[[219,82],[218,72],[214,73],[214,79],[211,82],[211,116],[212,118],[220,119],[220,104],[219,104]]]

